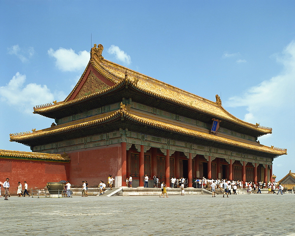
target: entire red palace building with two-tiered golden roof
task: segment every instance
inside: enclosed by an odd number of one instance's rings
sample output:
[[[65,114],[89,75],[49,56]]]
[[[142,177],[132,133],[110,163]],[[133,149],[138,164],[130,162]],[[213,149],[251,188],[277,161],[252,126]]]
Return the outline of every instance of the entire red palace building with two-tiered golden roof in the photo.
[[[65,153],[72,184],[91,185],[115,177],[137,186],[143,176],[158,176],[169,186],[172,176],[227,178],[267,182],[273,159],[286,149],[268,147],[258,137],[269,127],[250,124],[216,101],[110,62],[94,44],[90,61],[64,101],[34,107],[54,119],[51,127],[10,134],[10,141],[34,153]],[[48,180],[50,181],[50,180]],[[133,186],[136,187],[136,186]]]

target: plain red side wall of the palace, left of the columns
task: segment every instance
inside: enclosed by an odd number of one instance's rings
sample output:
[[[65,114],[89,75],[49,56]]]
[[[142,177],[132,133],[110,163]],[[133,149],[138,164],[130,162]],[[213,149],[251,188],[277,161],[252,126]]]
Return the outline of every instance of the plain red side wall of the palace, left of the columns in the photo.
[[[68,153],[70,183],[82,186],[86,180],[89,187],[97,187],[100,180],[107,182],[108,175],[121,176],[121,145]]]

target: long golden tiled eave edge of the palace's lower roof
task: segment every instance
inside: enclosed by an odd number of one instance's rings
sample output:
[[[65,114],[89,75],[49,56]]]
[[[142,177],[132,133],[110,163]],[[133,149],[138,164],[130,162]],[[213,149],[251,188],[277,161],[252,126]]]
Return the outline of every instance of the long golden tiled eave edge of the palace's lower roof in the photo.
[[[257,152],[261,152],[261,153],[269,153],[269,154],[276,155],[276,156],[281,156],[281,155],[287,154],[286,150],[278,150],[278,149],[270,148],[270,147],[263,146],[263,145],[255,146],[255,145],[246,144],[246,143],[242,143],[242,142],[238,142],[238,141],[233,141],[228,138],[223,138],[223,137],[219,137],[216,135],[209,135],[209,134],[199,132],[196,130],[190,130],[190,129],[186,129],[186,128],[179,127],[176,125],[170,125],[170,124],[155,121],[152,119],[139,117],[139,116],[128,113],[126,110],[118,110],[107,117],[103,117],[100,119],[96,119],[96,120],[92,120],[92,121],[88,121],[88,122],[83,122],[83,123],[79,123],[79,124],[75,124],[75,125],[70,125],[67,127],[61,127],[61,128],[57,128],[54,130],[48,130],[48,131],[41,130],[40,132],[36,132],[36,133],[12,136],[10,138],[10,141],[22,143],[25,140],[34,140],[34,139],[45,138],[45,137],[53,136],[53,135],[61,135],[61,134],[67,133],[67,132],[74,132],[77,130],[82,130],[87,127],[94,127],[94,126],[98,126],[98,125],[104,125],[104,124],[108,124],[111,122],[115,122],[115,121],[121,119],[121,117],[124,117],[124,119],[129,120],[130,122],[135,122],[135,123],[138,123],[141,125],[150,126],[150,127],[160,129],[160,130],[166,130],[169,132],[174,132],[174,133],[178,133],[178,134],[185,135],[185,136],[191,136],[194,138],[207,140],[210,142],[216,142],[216,143],[221,143],[221,144],[225,144],[225,145],[229,145],[229,146],[235,146],[238,148],[253,150],[253,151],[257,151]]]

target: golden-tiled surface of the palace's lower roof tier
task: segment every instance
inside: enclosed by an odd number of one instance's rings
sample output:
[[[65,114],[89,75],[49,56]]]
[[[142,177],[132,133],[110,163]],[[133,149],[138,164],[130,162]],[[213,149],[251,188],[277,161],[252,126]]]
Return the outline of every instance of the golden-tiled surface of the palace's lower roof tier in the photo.
[[[54,127],[51,127],[45,130],[38,130],[38,131],[35,131],[34,133],[11,135],[10,141],[21,142],[22,140],[36,139],[36,138],[42,138],[48,135],[62,134],[64,132],[75,131],[75,130],[83,129],[85,127],[97,126],[97,125],[114,122],[121,119],[121,117],[124,117],[124,119],[130,120],[131,122],[136,122],[142,125],[147,125],[150,127],[161,129],[161,130],[168,130],[168,131],[179,133],[182,135],[189,135],[194,138],[213,141],[217,143],[223,143],[230,146],[235,146],[235,147],[244,148],[248,150],[254,150],[254,151],[263,152],[263,153],[271,153],[275,155],[287,154],[287,149],[268,147],[258,143],[255,143],[255,144],[243,143],[240,141],[232,140],[230,138],[219,137],[216,135],[211,135],[209,133],[192,130],[192,129],[180,127],[177,125],[171,125],[165,122],[156,121],[154,119],[150,119],[146,117],[141,117],[139,115],[132,114],[132,111],[130,111],[130,109],[128,110],[129,111],[127,111],[127,108],[125,108],[124,104],[121,104],[121,108],[119,110],[114,112],[109,112],[108,114],[100,114],[94,117],[88,117],[87,118],[88,121],[86,122],[81,122],[81,120],[76,120],[71,122],[71,125],[68,125],[68,123],[66,123],[63,125],[56,125]],[[105,115],[105,117],[101,117],[102,115]],[[89,120],[89,119],[94,119],[94,120]]]

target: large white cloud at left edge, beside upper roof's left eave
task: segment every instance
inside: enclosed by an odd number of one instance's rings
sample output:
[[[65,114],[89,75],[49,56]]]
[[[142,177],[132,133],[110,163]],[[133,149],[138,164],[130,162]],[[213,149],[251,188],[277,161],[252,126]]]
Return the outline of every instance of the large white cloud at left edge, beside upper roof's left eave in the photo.
[[[65,98],[62,92],[51,93],[46,85],[25,84],[25,82],[26,75],[17,72],[6,86],[0,87],[1,102],[7,102],[25,113],[32,113],[36,105]]]

